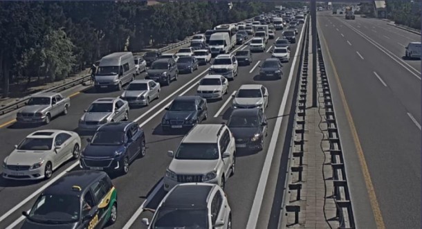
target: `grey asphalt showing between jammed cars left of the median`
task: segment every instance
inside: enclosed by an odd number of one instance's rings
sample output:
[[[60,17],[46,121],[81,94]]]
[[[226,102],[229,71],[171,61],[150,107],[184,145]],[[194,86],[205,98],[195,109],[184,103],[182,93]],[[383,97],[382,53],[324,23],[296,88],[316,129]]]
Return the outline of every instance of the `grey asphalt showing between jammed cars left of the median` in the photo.
[[[301,28],[303,27],[300,26]],[[301,35],[302,29],[299,30]],[[277,31],[275,38],[281,36]],[[295,52],[300,44],[291,47],[291,62],[284,64],[282,80],[258,80],[259,65],[264,59],[270,57],[275,39],[270,39],[266,45],[266,51],[253,54],[253,63],[250,66],[239,66],[239,75],[230,82],[229,93],[224,95],[223,100],[208,103],[208,120],[205,123],[225,122],[230,116],[231,94],[239,89],[241,84],[264,84],[269,91],[269,103],[266,109],[268,118],[268,137],[265,140],[264,150],[256,154],[237,152],[237,171],[226,183],[226,193],[232,208],[232,223],[234,228],[246,228],[249,223],[252,228],[265,228],[269,220],[269,212],[273,204],[273,196],[277,174],[279,171],[279,158],[282,154],[284,137],[287,128],[288,113],[290,113],[293,84],[295,82],[296,62]],[[236,46],[232,52],[248,48],[246,44]],[[110,228],[139,228],[140,218],[148,216],[149,212],[144,208],[154,209],[163,198],[163,183],[161,178],[171,158],[167,156],[167,150],[175,150],[183,138],[183,133],[168,135],[163,134],[160,127],[164,109],[177,95],[194,95],[201,77],[208,73],[208,66],[199,67],[198,71],[191,74],[179,75],[176,82],[169,86],[163,86],[159,100],[154,100],[149,107],[131,109],[129,120],[134,120],[144,129],[147,141],[147,155],[135,161],[129,174],[113,177],[113,183],[118,189],[118,221]],[[143,78],[141,74],[138,78]],[[3,160],[12,151],[13,146],[25,138],[31,132],[38,129],[65,129],[77,131],[77,123],[84,109],[97,98],[117,97],[122,92],[96,93],[92,89],[81,91],[71,98],[71,108],[67,116],[60,116],[50,124],[41,127],[18,127],[10,125],[0,129],[2,150],[0,158]],[[284,109],[287,107],[286,109]],[[273,136],[275,134],[275,136]],[[88,136],[81,136],[86,145]],[[289,143],[289,140],[286,141]],[[270,149],[270,150],[268,150]],[[269,158],[267,158],[269,154]],[[273,160],[270,160],[273,159]],[[0,228],[18,228],[21,225],[21,211],[28,210],[35,201],[37,190],[50,184],[57,176],[62,176],[66,170],[78,170],[77,161],[70,161],[57,170],[51,180],[40,182],[6,181],[0,178]],[[263,168],[268,169],[264,179]],[[266,180],[265,180],[266,181]],[[280,194],[277,194],[280,195]],[[147,205],[143,205],[148,199]],[[252,212],[252,213],[251,213]]]

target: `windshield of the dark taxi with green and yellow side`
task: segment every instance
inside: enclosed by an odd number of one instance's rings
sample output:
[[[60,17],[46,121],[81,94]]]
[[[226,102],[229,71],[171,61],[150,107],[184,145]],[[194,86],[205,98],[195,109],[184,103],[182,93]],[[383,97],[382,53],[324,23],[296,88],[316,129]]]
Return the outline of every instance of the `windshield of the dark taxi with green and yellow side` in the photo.
[[[28,218],[47,224],[77,222],[80,219],[80,199],[77,195],[42,194],[28,213]]]

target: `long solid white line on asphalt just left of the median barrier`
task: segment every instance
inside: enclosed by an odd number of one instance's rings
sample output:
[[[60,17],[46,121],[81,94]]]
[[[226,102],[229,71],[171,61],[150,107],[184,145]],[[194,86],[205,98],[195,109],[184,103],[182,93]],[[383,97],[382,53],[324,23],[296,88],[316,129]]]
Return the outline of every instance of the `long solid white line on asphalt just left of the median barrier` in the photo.
[[[304,29],[302,29],[302,31],[300,32],[300,38],[299,38],[299,41],[297,42],[297,44],[299,45],[296,46],[295,57],[293,57],[293,64],[291,65],[290,73],[288,74],[288,80],[286,84],[286,89],[284,90],[282,104],[280,104],[273,135],[271,136],[270,145],[268,147],[268,151],[266,154],[264,166],[262,167],[261,176],[259,177],[259,183],[257,186],[257,191],[255,192],[255,198],[253,199],[253,205],[252,205],[252,208],[250,209],[250,214],[248,218],[248,224],[246,225],[246,229],[257,228],[259,212],[261,211],[262,199],[264,199],[266,183],[268,181],[268,174],[270,173],[270,166],[271,166],[271,162],[273,161],[275,146],[277,145],[278,135],[279,135],[280,127],[282,125],[282,121],[283,121],[283,113],[284,113],[284,110],[286,109],[286,102],[287,102],[288,93],[290,91],[290,87],[291,87],[291,83],[293,79],[293,72],[295,70],[297,57],[300,56],[299,48],[300,48],[300,44],[302,43],[301,41],[302,41],[303,35],[304,35]]]

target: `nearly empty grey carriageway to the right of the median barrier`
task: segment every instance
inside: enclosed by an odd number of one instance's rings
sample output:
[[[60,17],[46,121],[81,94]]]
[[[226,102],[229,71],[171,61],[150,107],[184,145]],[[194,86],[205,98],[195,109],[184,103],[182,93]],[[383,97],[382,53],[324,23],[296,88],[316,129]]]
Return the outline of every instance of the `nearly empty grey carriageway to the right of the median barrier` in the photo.
[[[319,13],[318,28],[336,87],[356,221],[421,228],[421,60],[404,58],[405,46],[421,36],[380,19],[345,20],[331,12]]]

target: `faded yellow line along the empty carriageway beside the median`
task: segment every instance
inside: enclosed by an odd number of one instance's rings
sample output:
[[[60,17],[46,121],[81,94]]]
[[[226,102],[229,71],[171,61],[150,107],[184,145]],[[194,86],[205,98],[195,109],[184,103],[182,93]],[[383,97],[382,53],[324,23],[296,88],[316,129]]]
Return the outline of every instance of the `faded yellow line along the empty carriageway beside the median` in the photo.
[[[381,214],[381,210],[380,210],[380,207],[378,205],[378,200],[376,199],[374,185],[372,185],[371,175],[369,174],[367,163],[365,161],[365,155],[363,154],[363,149],[362,149],[362,146],[360,145],[358,131],[356,131],[356,127],[354,125],[353,118],[351,117],[349,105],[347,104],[346,96],[345,96],[345,93],[342,89],[342,86],[341,86],[341,83],[340,83],[340,78],[338,77],[338,73],[337,73],[337,70],[336,70],[336,66],[334,66],[333,59],[331,58],[331,53],[329,51],[327,41],[325,40],[325,37],[324,37],[324,35],[322,35],[322,33],[320,33],[320,37],[325,44],[325,48],[327,50],[327,55],[328,55],[330,64],[333,67],[333,74],[334,74],[334,77],[336,77],[338,91],[340,92],[340,97],[341,97],[341,100],[342,100],[342,103],[343,103],[343,107],[345,108],[347,120],[349,121],[349,127],[350,127],[350,130],[351,130],[351,134],[353,136],[353,140],[354,140],[354,143],[355,143],[355,146],[356,146],[356,151],[357,151],[358,157],[359,157],[360,168],[362,169],[363,177],[365,178],[365,184],[367,186],[367,192],[369,194],[369,201],[371,202],[372,212],[374,212],[376,227],[380,228],[380,229],[384,229],[385,224],[384,224],[384,221],[383,221],[383,215]]]

